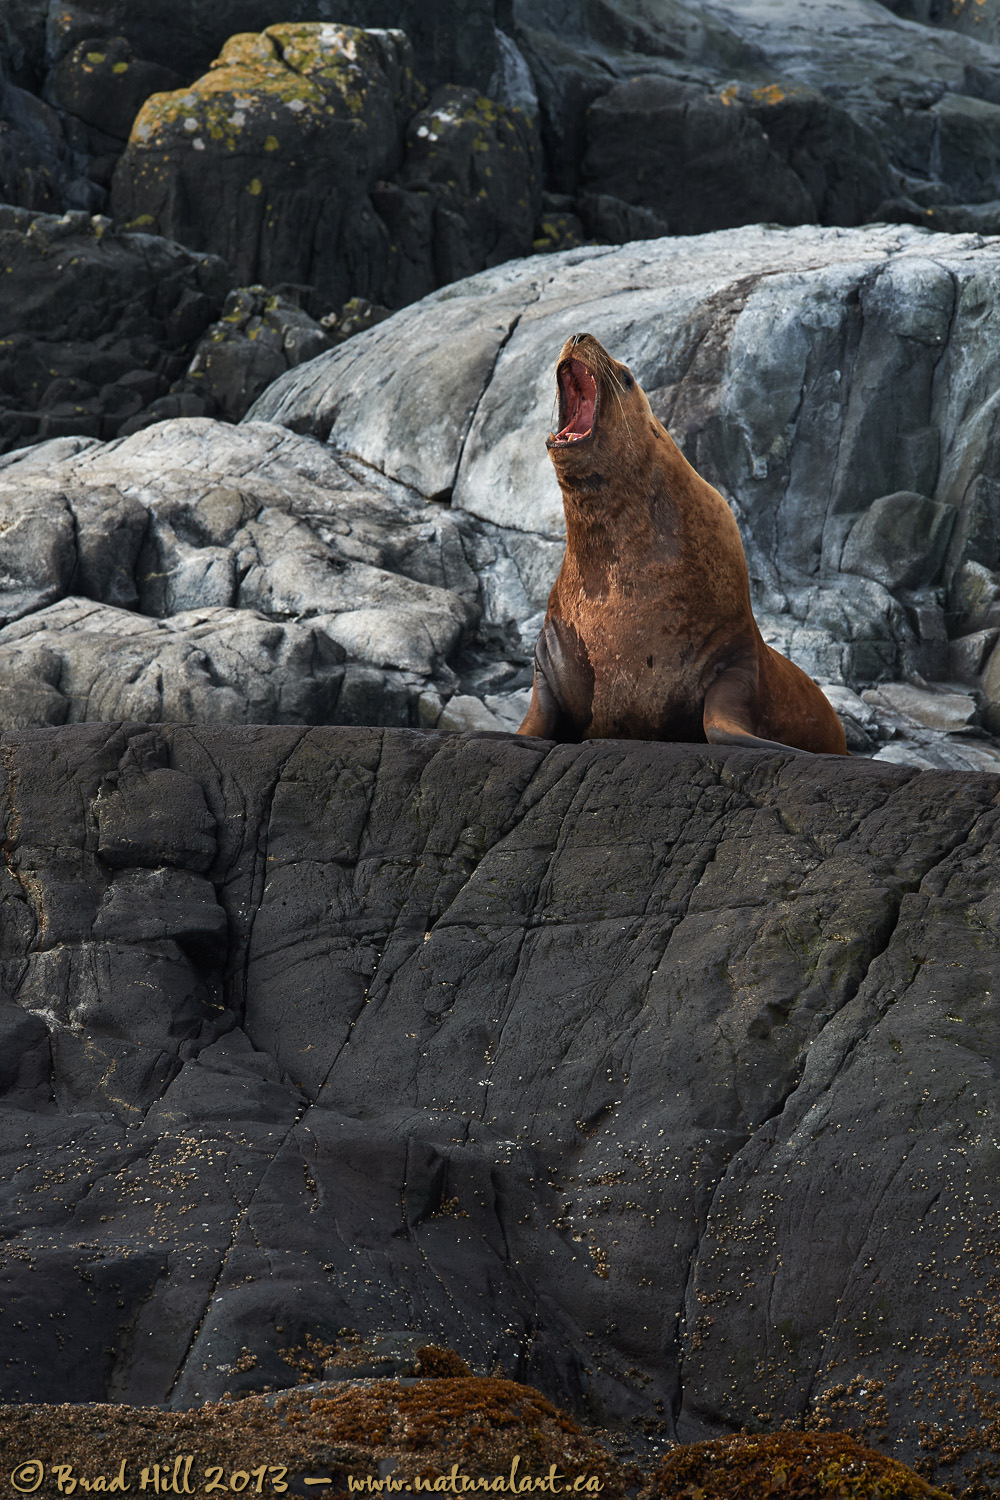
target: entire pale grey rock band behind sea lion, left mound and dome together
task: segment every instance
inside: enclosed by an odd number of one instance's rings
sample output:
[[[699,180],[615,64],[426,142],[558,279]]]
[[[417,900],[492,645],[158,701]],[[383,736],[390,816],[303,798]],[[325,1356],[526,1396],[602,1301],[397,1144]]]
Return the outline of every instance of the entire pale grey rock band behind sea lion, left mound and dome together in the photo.
[[[978,300],[994,260],[910,228],[577,250],[459,284],[300,364],[256,406],[277,424],[162,420],[186,402],[234,411],[249,375],[324,339],[294,300],[234,292],[127,440],[0,464],[3,722],[183,704],[195,722],[516,729],[564,546],[543,446],[552,358],[583,306],[730,500],[762,627],[826,684],[850,748],[994,770],[1000,531]],[[234,656],[244,632],[273,654]],[[276,694],[279,660],[300,681]]]

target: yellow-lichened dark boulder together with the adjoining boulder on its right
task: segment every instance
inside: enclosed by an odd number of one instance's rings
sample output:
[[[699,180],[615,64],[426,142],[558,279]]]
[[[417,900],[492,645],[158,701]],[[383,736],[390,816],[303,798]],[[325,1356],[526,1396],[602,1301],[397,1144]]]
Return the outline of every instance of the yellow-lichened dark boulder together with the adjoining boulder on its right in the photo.
[[[402,32],[235,36],[187,92],[145,104],[114,214],[213,246],[241,280],[412,302],[523,255],[540,204],[523,111],[457,86],[424,102]]]

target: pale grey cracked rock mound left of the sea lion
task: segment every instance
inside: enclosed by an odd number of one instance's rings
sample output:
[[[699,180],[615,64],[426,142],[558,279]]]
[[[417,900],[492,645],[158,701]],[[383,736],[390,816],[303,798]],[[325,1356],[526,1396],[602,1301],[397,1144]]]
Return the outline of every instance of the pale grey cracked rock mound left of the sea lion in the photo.
[[[280,428],[178,420],[22,450],[0,514],[12,728],[415,722],[429,678],[454,690],[478,615],[447,512]]]

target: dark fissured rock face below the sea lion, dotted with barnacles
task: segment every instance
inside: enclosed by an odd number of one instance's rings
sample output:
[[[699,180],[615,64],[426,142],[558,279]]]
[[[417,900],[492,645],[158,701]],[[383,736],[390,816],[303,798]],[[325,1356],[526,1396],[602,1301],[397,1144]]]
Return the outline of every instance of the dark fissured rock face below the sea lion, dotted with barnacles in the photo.
[[[144,724],[4,774],[3,1400],[409,1329],[682,1440],[982,1446],[996,777]]]

